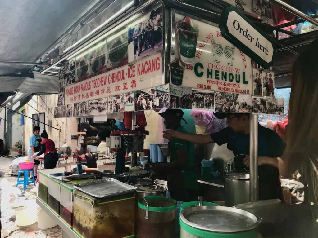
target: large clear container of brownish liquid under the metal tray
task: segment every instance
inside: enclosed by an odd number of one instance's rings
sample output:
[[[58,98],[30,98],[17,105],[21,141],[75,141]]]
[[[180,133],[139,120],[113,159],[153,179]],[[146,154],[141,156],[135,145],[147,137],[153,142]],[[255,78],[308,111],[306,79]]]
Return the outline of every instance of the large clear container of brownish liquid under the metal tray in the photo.
[[[135,195],[94,198],[74,190],[73,230],[84,238],[134,237]]]

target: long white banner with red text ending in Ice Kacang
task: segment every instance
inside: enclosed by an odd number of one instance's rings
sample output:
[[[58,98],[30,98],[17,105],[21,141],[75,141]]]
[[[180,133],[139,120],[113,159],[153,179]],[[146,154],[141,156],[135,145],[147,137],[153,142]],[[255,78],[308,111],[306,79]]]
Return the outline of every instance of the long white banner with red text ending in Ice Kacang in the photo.
[[[149,56],[131,66],[123,66],[65,88],[65,104],[105,98],[164,83],[162,56]]]

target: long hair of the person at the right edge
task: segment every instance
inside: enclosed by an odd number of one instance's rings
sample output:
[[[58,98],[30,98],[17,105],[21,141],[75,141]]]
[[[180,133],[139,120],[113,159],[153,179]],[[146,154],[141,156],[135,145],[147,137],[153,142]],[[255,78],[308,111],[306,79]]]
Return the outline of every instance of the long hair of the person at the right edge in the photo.
[[[294,62],[289,100],[287,147],[283,155],[291,175],[299,170],[305,200],[314,202],[318,219],[318,39]],[[308,185],[308,186],[307,186]]]

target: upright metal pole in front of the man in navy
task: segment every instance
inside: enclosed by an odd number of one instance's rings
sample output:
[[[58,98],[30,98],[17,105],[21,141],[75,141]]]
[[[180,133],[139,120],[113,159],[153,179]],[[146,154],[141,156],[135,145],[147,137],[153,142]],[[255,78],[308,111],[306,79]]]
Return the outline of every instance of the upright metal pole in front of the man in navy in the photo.
[[[250,115],[250,202],[258,199],[258,115]]]

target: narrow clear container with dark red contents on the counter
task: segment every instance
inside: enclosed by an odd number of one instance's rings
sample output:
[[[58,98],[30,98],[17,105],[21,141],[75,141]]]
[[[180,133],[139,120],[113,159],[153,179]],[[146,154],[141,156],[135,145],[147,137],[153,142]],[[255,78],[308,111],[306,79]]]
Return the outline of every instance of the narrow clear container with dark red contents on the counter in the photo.
[[[73,227],[73,187],[74,184],[60,182],[60,219]]]

